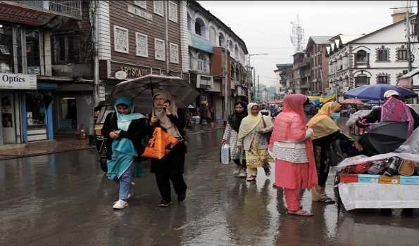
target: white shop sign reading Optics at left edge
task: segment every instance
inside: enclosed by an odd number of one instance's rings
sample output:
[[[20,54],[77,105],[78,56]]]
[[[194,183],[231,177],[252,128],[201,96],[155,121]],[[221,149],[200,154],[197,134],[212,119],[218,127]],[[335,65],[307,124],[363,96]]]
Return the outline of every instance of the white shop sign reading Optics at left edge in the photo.
[[[37,75],[0,73],[0,89],[36,90],[37,89]]]

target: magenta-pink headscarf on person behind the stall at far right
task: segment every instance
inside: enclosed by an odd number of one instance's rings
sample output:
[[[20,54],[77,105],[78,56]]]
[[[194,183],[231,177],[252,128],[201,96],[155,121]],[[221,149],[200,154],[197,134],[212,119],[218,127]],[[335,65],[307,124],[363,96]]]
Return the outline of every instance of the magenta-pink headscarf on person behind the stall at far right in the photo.
[[[397,98],[390,97],[381,108],[380,122],[408,122],[408,136],[415,127],[411,110],[404,102]]]

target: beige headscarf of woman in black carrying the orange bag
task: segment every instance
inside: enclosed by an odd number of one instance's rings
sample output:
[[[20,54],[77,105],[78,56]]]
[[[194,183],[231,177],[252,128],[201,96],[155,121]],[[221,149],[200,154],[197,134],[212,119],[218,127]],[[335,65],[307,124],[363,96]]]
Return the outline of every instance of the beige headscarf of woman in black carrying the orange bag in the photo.
[[[169,104],[170,111],[172,111],[172,114],[175,117],[178,117],[175,101],[172,99],[172,96],[170,96],[168,92],[160,91],[158,93],[155,93],[153,96],[153,99],[156,96],[161,96],[162,98],[165,99],[165,101],[170,101],[170,104]],[[168,115],[166,114],[165,110],[163,110],[163,108],[158,109],[156,105],[154,105],[154,114],[158,118],[158,122],[160,123],[160,126],[166,129],[168,134],[174,136],[175,138],[182,138],[182,135],[180,135],[179,129],[177,129],[175,124],[173,124],[173,122],[170,121]]]

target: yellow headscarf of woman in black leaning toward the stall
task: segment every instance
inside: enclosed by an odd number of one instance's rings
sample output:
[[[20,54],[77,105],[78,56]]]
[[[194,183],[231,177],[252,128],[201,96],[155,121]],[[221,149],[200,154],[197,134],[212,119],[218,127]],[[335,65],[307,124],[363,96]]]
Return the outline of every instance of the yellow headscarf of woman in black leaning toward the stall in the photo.
[[[322,138],[323,136],[340,131],[340,128],[336,123],[334,123],[330,115],[339,110],[341,107],[342,105],[337,102],[325,103],[317,115],[308,121],[307,127],[313,129],[313,136],[311,136],[312,139]]]

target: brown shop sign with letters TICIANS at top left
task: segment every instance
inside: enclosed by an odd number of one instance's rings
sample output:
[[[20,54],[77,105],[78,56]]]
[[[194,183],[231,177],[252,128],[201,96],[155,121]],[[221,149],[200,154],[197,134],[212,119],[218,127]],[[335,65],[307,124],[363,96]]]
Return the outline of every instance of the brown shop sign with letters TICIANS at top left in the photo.
[[[26,25],[45,25],[54,17],[51,13],[0,3],[0,20]]]

